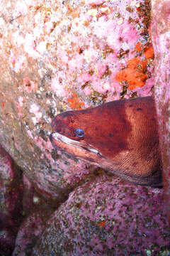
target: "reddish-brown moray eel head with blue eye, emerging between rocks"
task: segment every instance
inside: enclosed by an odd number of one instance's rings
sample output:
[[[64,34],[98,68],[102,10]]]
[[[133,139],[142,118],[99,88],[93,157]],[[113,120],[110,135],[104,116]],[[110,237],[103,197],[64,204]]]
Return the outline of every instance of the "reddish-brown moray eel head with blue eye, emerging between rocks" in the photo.
[[[52,120],[56,149],[132,183],[161,186],[156,110],[152,97],[116,100]]]

